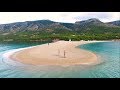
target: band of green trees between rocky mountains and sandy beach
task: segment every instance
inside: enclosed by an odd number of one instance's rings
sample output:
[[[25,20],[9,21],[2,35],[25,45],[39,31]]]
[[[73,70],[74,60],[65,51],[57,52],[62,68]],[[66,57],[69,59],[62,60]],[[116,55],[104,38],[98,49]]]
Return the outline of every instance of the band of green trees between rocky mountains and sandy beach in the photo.
[[[120,39],[120,33],[77,33],[77,32],[19,32],[9,33],[7,35],[0,35],[0,41],[52,41],[54,39],[59,40],[112,40]]]

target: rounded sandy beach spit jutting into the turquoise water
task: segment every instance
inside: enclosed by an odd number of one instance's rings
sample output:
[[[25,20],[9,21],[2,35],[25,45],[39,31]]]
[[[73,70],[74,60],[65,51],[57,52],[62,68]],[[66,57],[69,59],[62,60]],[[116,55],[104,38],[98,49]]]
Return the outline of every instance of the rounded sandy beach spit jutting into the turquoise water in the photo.
[[[58,41],[23,48],[8,55],[8,58],[32,65],[96,65],[100,63],[96,54],[80,48],[79,45],[106,42],[106,41]],[[57,50],[61,55],[58,56]],[[63,58],[63,51],[66,50],[66,58]]]

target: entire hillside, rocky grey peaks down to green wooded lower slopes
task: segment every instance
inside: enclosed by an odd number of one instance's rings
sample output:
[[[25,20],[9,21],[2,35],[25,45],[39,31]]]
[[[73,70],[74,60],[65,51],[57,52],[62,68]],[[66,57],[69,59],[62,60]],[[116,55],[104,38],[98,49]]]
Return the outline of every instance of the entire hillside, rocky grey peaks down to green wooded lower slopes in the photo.
[[[117,23],[116,23],[117,22]],[[119,21],[104,23],[91,18],[75,23],[37,20],[0,25],[1,41],[40,41],[48,39],[107,40],[120,38]]]

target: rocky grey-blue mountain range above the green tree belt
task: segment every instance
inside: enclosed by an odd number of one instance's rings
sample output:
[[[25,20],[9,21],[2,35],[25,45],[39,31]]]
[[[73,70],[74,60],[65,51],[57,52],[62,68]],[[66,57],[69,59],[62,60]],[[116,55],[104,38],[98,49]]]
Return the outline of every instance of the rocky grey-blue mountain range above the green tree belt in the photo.
[[[1,24],[0,33],[18,33],[18,32],[77,32],[77,33],[120,33],[120,20],[104,23],[97,18],[91,18],[75,23],[54,22],[51,20],[36,20],[26,22],[16,22],[10,24]]]

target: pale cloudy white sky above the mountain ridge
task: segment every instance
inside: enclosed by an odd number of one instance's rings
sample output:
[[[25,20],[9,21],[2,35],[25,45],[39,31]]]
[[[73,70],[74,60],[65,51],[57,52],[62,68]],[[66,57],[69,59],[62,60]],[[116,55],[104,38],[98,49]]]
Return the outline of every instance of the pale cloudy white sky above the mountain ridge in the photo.
[[[102,22],[120,20],[120,12],[0,12],[0,24],[34,20],[75,23],[98,18]]]

